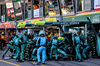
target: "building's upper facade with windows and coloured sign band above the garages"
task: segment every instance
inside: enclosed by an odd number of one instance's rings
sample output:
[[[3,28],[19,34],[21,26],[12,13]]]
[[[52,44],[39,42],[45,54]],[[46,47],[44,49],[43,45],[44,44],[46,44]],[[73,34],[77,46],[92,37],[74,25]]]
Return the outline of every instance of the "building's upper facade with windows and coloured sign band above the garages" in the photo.
[[[99,0],[5,0],[0,4],[1,22],[34,24],[37,21],[86,21],[100,23]],[[17,22],[17,23],[16,23]],[[7,27],[9,28],[9,27]]]

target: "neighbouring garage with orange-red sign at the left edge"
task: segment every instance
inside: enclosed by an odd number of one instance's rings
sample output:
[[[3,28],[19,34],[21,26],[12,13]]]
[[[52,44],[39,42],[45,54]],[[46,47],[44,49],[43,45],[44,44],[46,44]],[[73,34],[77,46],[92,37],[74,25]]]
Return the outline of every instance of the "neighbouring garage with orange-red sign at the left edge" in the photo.
[[[11,36],[12,32],[16,31],[16,26],[14,25],[14,23],[9,23],[9,22],[5,22],[5,23],[0,23],[0,35],[2,40],[5,42],[7,39],[7,36]],[[5,43],[3,44],[5,45]]]

